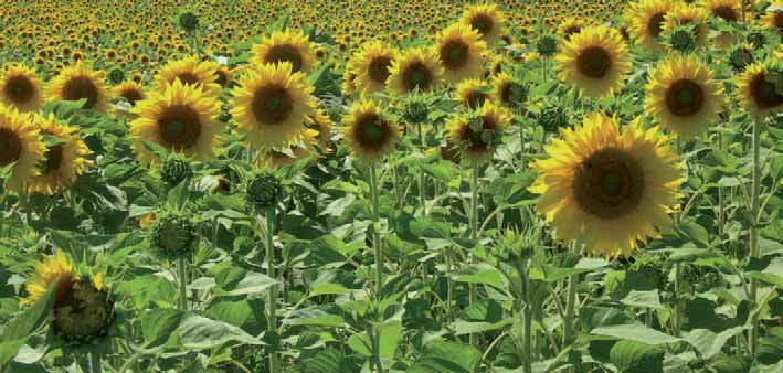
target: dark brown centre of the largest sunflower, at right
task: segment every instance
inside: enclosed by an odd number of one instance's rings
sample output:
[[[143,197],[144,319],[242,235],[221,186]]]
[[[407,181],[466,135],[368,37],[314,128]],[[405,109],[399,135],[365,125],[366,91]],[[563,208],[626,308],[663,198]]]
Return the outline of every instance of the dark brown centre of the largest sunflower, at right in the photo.
[[[633,211],[644,195],[644,173],[636,160],[618,149],[594,152],[574,172],[573,194],[585,213],[616,219]]]

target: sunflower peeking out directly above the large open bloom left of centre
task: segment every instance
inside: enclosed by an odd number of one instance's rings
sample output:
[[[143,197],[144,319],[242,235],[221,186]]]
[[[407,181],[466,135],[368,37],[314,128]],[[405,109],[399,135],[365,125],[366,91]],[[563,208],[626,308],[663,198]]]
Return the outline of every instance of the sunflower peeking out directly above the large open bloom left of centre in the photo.
[[[248,62],[255,66],[288,62],[294,73],[307,74],[313,67],[311,50],[307,35],[301,31],[276,31],[253,46]]]

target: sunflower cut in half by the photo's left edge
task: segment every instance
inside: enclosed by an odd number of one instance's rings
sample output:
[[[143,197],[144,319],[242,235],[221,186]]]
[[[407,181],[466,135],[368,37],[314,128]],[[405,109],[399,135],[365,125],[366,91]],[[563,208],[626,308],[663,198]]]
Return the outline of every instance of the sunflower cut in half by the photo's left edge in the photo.
[[[0,106],[0,168],[14,163],[7,188],[19,189],[38,173],[46,146],[27,115]]]

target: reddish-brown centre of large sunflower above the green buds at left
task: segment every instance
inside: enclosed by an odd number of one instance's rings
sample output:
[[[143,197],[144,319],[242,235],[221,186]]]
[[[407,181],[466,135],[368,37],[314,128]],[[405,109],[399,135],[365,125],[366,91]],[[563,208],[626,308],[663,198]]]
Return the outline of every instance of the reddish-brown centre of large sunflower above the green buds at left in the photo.
[[[201,136],[199,114],[187,105],[169,106],[160,114],[158,132],[168,148],[177,151],[190,148]]]

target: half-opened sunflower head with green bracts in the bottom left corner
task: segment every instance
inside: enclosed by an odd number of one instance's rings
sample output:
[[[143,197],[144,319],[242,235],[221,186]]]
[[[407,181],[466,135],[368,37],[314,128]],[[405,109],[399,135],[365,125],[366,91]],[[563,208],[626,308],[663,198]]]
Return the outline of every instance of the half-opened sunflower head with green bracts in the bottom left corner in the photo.
[[[32,305],[56,283],[51,326],[68,342],[86,343],[108,333],[114,320],[114,302],[104,288],[103,275],[80,275],[61,249],[35,263],[22,305]]]

